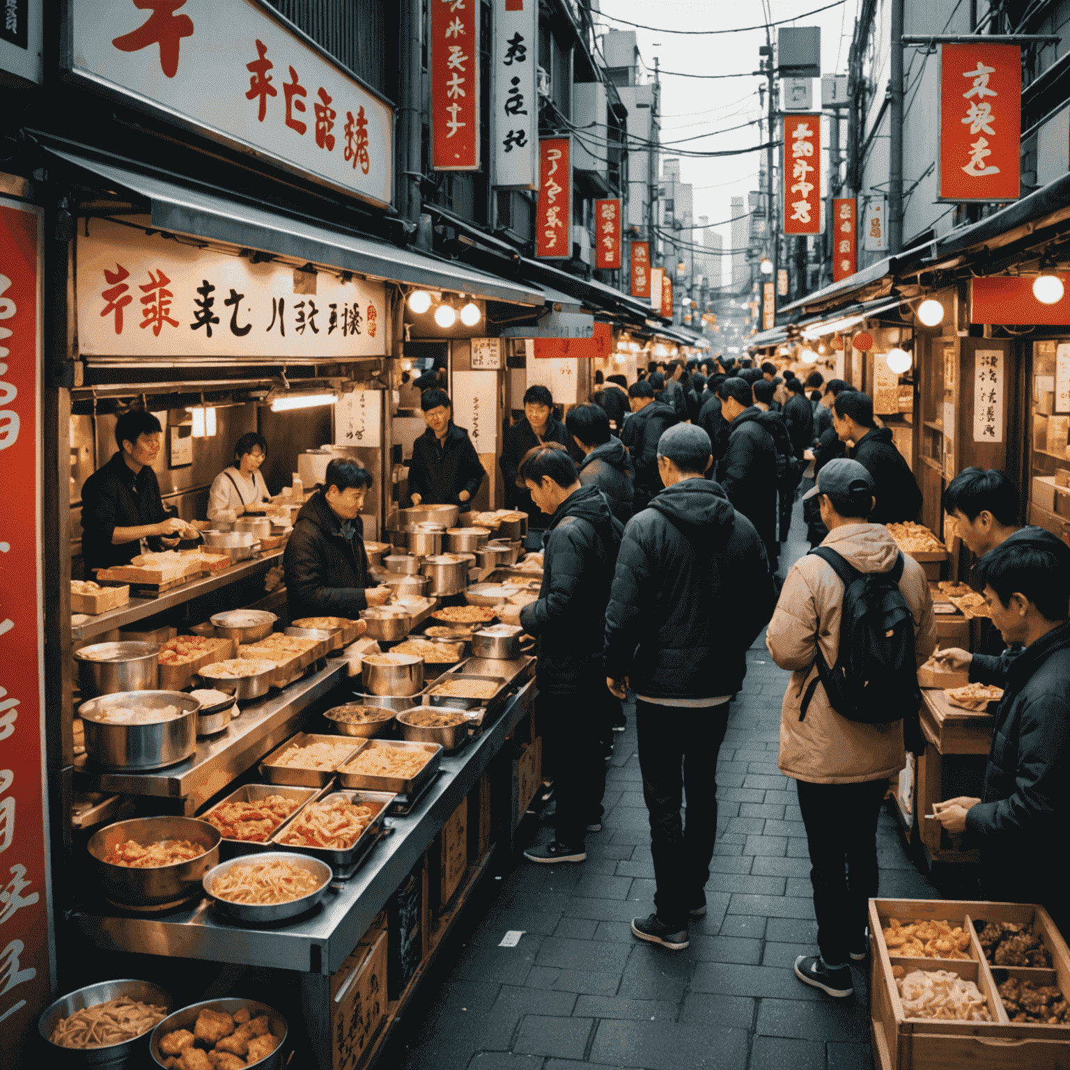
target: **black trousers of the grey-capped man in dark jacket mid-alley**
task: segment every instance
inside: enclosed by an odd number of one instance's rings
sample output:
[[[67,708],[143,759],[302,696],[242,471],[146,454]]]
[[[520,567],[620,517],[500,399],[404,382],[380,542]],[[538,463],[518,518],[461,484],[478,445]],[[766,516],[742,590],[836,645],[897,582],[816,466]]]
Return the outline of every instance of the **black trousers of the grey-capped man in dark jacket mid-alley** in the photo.
[[[717,752],[728,729],[729,704],[691,709],[636,702],[639,768],[651,817],[651,854],[658,918],[687,927],[687,912],[703,902],[717,839]],[[681,807],[687,793],[687,824]]]

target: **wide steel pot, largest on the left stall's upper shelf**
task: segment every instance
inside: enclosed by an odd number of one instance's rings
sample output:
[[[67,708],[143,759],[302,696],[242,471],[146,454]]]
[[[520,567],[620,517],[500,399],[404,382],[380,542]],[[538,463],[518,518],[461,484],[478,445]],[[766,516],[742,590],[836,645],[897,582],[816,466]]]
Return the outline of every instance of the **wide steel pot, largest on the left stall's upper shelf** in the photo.
[[[178,706],[185,713],[155,724],[107,724],[94,715],[128,706],[162,709]],[[86,734],[86,753],[111,769],[163,769],[184,762],[197,749],[200,703],[185,691],[131,691],[104,694],[78,709]]]

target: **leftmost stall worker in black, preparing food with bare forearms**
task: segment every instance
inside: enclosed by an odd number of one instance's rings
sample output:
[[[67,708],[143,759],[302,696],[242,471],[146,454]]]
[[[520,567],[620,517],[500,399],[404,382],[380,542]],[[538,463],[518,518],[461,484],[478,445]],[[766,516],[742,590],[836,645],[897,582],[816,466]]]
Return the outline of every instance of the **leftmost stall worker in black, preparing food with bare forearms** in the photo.
[[[123,413],[116,423],[116,442],[118,453],[81,488],[86,579],[98,568],[128,565],[146,548],[170,549],[180,536],[197,535],[184,520],[168,515],[159,496],[152,470],[164,442],[159,421],[140,409]]]

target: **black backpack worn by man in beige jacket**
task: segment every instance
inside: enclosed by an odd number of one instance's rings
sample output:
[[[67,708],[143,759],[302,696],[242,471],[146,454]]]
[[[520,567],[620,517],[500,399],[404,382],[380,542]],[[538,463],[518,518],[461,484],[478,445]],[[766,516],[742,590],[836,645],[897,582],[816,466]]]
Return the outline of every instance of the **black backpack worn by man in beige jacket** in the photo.
[[[843,582],[840,645],[829,668],[817,647],[817,675],[802,698],[799,720],[817,684],[825,687],[831,707],[863,724],[908,722],[921,704],[914,654],[914,617],[899,590],[903,555],[887,572],[859,572],[835,550],[814,547]]]

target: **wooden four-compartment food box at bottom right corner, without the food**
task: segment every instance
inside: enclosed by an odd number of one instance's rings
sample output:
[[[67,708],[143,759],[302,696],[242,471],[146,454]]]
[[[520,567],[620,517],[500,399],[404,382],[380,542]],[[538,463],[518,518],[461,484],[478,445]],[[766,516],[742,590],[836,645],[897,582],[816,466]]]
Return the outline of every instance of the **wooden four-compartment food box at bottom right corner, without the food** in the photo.
[[[891,918],[904,923],[943,919],[969,932],[968,960],[891,957],[883,930]],[[1052,953],[1054,969],[993,967],[977,938],[987,921],[1028,922]],[[870,976],[873,1058],[880,1070],[1065,1070],[1070,1066],[1070,1025],[1011,1022],[996,991],[993,969],[1019,980],[1057,984],[1070,992],[1070,951],[1041,906],[962,900],[871,899]],[[946,969],[974,981],[985,997],[991,1022],[906,1018],[892,967]],[[1000,974],[1000,976],[1003,976]]]

